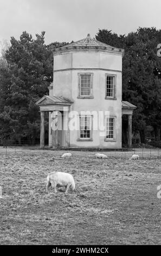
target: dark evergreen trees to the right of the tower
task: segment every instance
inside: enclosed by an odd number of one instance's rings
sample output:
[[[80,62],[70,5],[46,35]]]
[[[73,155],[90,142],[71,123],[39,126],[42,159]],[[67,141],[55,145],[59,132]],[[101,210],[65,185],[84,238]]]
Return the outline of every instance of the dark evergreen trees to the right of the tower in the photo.
[[[151,125],[156,139],[160,137],[161,108],[161,59],[157,57],[157,45],[161,31],[156,28],[139,28],[137,32],[117,35],[99,30],[96,39],[118,48],[124,48],[123,100],[137,106],[133,112],[133,132],[140,132],[145,143],[146,127]]]

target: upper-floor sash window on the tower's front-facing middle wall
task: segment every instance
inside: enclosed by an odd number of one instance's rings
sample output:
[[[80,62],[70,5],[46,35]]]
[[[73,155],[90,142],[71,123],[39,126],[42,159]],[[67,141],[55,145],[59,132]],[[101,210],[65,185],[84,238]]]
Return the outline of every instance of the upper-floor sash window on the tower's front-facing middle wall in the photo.
[[[79,96],[80,98],[93,98],[93,74],[79,75]]]

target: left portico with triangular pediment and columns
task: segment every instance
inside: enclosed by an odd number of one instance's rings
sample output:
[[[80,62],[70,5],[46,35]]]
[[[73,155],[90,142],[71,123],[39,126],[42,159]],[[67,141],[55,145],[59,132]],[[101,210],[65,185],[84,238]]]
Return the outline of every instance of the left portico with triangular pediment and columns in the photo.
[[[43,96],[36,102],[40,107],[40,148],[44,148],[44,112],[49,112],[49,146],[52,148],[69,148],[70,134],[68,113],[72,101],[65,97]]]

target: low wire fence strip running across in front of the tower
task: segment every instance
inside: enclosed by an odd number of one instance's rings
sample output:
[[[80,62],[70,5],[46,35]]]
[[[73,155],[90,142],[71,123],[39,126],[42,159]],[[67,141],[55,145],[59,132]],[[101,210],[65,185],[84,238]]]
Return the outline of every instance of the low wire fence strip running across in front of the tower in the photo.
[[[66,153],[67,150],[53,150],[48,148],[46,145],[46,149],[40,150],[39,143],[33,143],[31,141],[5,141],[0,144],[0,154],[53,154],[57,156],[61,156],[63,153]],[[74,150],[74,151],[73,151]],[[132,148],[129,149],[120,149],[120,150],[110,150],[109,151],[99,151],[99,150],[81,150],[81,149],[69,149],[68,152],[71,152],[73,156],[86,156],[93,157],[95,153],[99,152],[107,155],[108,157],[115,157],[121,159],[130,159],[133,154],[139,155],[139,159],[161,159],[161,149],[160,148]],[[88,153],[87,153],[88,151]]]

